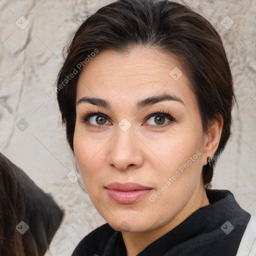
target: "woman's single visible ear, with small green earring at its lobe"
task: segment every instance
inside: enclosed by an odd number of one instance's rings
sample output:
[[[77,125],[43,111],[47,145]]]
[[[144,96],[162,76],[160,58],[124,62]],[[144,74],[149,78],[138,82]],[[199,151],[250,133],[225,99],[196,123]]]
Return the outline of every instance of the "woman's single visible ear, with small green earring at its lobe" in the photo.
[[[207,157],[213,157],[215,151],[218,148],[219,140],[221,137],[223,127],[223,117],[218,114],[214,120],[211,121],[208,126],[208,132],[204,136],[204,149],[202,155],[202,165],[207,164]]]

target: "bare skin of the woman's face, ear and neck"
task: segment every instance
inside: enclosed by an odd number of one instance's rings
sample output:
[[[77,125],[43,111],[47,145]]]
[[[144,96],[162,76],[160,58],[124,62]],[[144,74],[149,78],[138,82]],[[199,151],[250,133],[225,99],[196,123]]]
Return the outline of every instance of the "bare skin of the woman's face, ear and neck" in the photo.
[[[88,195],[99,214],[122,232],[127,255],[133,256],[177,226],[192,212],[209,204],[202,182],[202,166],[217,149],[222,116],[203,133],[199,108],[183,73],[174,80],[169,72],[178,67],[170,53],[134,47],[127,54],[100,51],[82,69],[77,82],[76,102],[84,96],[108,100],[111,110],[88,102],[76,104],[74,154]],[[137,101],[163,92],[179,97],[135,109]],[[156,122],[157,110],[169,110]],[[87,110],[104,113],[97,121],[81,119]],[[102,117],[101,117],[102,118]],[[126,118],[131,126],[123,131],[118,123]],[[162,127],[162,123],[169,123]],[[94,125],[94,126],[93,126]],[[99,127],[99,128],[98,128]],[[149,196],[190,157],[200,155],[152,202]],[[114,202],[106,193],[110,182],[137,182],[153,188],[131,204]],[[152,197],[151,197],[152,198]]]

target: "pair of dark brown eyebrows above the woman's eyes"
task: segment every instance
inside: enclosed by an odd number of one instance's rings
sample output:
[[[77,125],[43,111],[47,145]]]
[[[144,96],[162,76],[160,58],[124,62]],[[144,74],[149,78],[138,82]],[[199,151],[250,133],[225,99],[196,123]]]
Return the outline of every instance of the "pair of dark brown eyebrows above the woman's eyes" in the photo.
[[[180,102],[183,105],[185,105],[184,102],[179,97],[172,95],[172,94],[163,93],[158,96],[151,96],[151,97],[147,97],[147,98],[144,98],[144,99],[138,101],[136,103],[136,109],[140,110],[141,108],[144,108],[145,106],[153,105],[155,103],[165,101],[165,100],[177,101],[177,102]],[[111,104],[109,103],[109,101],[102,99],[102,98],[82,97],[76,102],[76,105],[80,104],[82,102],[88,102],[93,105],[102,106],[104,108],[111,109]]]

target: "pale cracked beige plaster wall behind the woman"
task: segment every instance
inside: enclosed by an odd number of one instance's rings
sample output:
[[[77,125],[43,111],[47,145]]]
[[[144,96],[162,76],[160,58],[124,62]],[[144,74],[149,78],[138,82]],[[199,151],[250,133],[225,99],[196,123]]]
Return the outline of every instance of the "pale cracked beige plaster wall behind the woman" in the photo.
[[[105,223],[78,182],[67,178],[73,159],[57,101],[46,94],[53,90],[67,40],[85,15],[110,2],[0,0],[0,151],[65,210],[46,255],[70,255],[84,235]],[[229,189],[243,209],[256,214],[255,1],[184,2],[219,32],[239,105],[212,188]]]

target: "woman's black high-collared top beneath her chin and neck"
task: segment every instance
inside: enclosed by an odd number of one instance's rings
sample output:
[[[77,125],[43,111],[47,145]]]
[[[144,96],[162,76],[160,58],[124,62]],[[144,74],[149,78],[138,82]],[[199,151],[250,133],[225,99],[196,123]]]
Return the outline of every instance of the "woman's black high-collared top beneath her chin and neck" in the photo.
[[[235,256],[251,215],[229,190],[205,190],[209,205],[194,211],[137,256]],[[105,223],[87,234],[71,256],[96,255],[126,256],[121,231]]]

